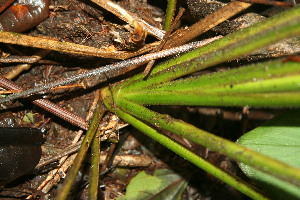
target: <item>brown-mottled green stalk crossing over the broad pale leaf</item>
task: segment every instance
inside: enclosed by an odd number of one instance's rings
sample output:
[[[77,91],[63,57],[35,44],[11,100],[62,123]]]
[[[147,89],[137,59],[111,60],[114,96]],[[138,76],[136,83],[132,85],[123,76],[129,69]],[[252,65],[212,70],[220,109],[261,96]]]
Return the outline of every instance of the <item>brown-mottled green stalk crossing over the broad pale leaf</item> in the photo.
[[[157,128],[168,130],[213,151],[225,154],[236,161],[243,162],[284,181],[300,186],[300,169],[294,168],[285,163],[244,148],[234,142],[198,129],[197,127],[182,120],[174,119],[169,115],[153,112],[144,106],[124,99],[118,100],[117,105],[119,105],[125,112],[142,119]]]

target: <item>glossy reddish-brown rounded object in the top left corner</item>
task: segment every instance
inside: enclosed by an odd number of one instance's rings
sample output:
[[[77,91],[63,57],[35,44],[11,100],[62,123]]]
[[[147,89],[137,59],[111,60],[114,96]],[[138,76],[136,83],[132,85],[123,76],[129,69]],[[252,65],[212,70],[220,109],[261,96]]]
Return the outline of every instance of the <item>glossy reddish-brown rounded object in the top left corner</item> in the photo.
[[[5,0],[0,0],[0,3]],[[0,15],[0,30],[23,32],[44,21],[50,0],[18,0]]]

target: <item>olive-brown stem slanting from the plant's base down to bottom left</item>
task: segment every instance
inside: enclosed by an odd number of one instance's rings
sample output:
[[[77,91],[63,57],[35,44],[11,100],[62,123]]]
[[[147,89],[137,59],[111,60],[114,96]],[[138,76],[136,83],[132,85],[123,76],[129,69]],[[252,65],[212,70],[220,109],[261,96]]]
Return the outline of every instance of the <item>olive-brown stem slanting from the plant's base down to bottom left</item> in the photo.
[[[86,152],[93,140],[95,133],[97,132],[98,125],[100,123],[100,120],[101,120],[104,112],[105,112],[105,107],[102,104],[102,102],[99,101],[97,107],[95,108],[89,129],[82,141],[81,147],[77,153],[75,161],[74,161],[71,169],[67,173],[67,177],[63,183],[62,189],[55,198],[56,200],[67,199],[68,194],[71,190],[71,187],[74,183],[74,180],[77,176],[77,173],[80,169],[81,163],[83,162]]]

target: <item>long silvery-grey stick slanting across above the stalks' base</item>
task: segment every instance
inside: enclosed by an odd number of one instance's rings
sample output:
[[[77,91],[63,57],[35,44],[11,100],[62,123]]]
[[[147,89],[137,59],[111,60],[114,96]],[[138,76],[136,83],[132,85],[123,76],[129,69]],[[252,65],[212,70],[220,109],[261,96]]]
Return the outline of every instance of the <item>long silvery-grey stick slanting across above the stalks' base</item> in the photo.
[[[103,66],[103,67],[100,67],[100,68],[97,68],[94,70],[90,70],[90,71],[82,73],[82,74],[71,76],[66,79],[60,79],[60,80],[57,80],[57,81],[49,83],[49,84],[45,84],[45,85],[42,85],[39,87],[35,87],[35,88],[31,88],[31,89],[28,89],[28,90],[25,90],[22,92],[11,94],[8,97],[0,99],[0,104],[15,100],[18,98],[27,97],[27,96],[36,94],[41,91],[50,90],[57,86],[66,85],[66,84],[70,84],[72,82],[79,81],[82,79],[95,77],[94,79],[96,81],[91,85],[87,85],[87,87],[92,87],[94,85],[97,85],[99,83],[107,81],[107,78],[114,78],[114,77],[124,74],[130,70],[133,70],[138,67],[137,66],[138,64],[149,62],[150,60],[163,58],[163,57],[174,55],[174,54],[179,54],[179,53],[182,53],[185,51],[193,50],[198,47],[204,46],[204,45],[206,45],[214,40],[217,40],[219,38],[220,38],[220,36],[217,36],[217,37],[210,38],[207,40],[192,42],[192,43],[185,44],[185,45],[182,45],[179,47],[159,51],[156,53],[146,54],[146,55],[143,55],[143,56],[140,56],[137,58],[124,60],[124,61],[117,62],[117,63],[111,64],[111,65],[106,65],[106,66]]]

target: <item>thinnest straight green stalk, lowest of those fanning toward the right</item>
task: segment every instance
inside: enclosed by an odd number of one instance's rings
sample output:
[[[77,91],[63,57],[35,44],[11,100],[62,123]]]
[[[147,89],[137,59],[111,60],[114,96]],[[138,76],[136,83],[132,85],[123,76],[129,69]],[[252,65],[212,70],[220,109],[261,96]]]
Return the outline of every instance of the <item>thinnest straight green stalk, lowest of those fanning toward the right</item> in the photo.
[[[253,199],[268,199],[262,193],[259,192],[258,189],[253,187],[252,185],[246,183],[239,177],[234,176],[233,174],[229,174],[216,166],[212,165],[205,159],[199,157],[198,155],[194,154],[187,148],[183,147],[182,145],[176,143],[172,139],[160,134],[155,129],[151,128],[150,126],[146,125],[145,123],[141,122],[137,118],[127,114],[119,109],[116,110],[118,116],[124,119],[126,122],[133,125],[138,130],[144,132],[146,135],[151,137],[152,139],[158,141],[165,147],[169,148],[179,156],[182,156],[189,162],[193,163],[194,165],[202,168],[203,170],[209,172],[213,176],[221,179],[225,183],[229,184],[230,186],[234,187],[235,189],[239,190],[240,192],[248,195]]]

